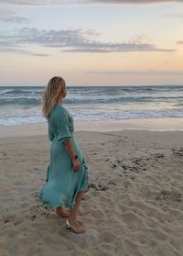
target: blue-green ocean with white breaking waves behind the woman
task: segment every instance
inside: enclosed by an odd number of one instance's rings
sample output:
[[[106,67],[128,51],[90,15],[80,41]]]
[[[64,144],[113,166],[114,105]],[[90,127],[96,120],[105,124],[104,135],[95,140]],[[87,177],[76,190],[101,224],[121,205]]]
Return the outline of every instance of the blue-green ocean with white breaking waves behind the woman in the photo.
[[[1,86],[0,126],[46,122],[43,86]],[[183,117],[183,85],[68,86],[63,101],[74,120]]]

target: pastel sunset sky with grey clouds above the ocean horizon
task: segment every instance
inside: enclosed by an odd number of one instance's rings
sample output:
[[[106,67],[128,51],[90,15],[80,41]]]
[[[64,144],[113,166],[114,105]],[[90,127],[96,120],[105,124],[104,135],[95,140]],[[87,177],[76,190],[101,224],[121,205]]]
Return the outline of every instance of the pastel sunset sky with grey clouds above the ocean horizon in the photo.
[[[183,0],[0,0],[0,86],[183,84]]]

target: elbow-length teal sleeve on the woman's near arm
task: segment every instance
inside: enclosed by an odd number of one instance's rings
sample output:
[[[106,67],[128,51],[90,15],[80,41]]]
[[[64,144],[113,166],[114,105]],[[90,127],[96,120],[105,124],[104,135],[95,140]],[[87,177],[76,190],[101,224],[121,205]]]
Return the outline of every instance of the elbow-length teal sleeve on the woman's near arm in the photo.
[[[72,137],[69,129],[69,119],[67,113],[60,112],[56,119],[57,125],[57,139],[65,144],[68,139]]]

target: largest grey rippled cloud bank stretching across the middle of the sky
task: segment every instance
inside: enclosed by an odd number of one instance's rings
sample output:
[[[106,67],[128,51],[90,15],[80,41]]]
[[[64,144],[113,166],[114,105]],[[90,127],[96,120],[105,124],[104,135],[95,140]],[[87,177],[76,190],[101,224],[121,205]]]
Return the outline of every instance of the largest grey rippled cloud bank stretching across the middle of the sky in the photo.
[[[38,28],[20,28],[13,31],[0,31],[0,48],[22,48],[39,45],[48,48],[59,48],[67,52],[123,52],[123,51],[174,51],[162,49],[149,43],[144,36],[137,36],[128,42],[103,42],[97,40],[95,30],[46,30]]]

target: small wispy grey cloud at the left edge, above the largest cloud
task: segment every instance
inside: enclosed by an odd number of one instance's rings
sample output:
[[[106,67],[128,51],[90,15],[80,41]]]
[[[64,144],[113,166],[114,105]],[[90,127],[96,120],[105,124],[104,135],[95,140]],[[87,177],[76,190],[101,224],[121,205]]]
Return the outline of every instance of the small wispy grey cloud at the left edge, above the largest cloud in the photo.
[[[0,9],[0,21],[25,24],[28,23],[29,20],[27,17],[21,17],[13,11]]]

